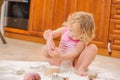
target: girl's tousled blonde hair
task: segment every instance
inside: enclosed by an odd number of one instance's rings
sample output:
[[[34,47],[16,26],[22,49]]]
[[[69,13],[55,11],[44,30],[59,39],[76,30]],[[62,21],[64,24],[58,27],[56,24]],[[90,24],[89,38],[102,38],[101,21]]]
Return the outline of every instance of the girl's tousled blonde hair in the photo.
[[[87,12],[75,12],[70,14],[67,24],[78,23],[81,40],[90,42],[95,37],[95,24],[93,15]]]

